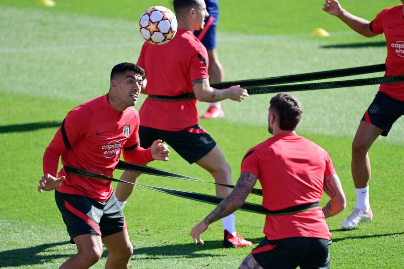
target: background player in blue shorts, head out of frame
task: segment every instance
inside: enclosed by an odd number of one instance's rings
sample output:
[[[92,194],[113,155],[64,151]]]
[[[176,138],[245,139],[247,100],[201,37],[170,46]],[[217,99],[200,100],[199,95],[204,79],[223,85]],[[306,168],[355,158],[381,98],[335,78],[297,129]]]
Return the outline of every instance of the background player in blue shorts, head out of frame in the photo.
[[[205,19],[204,29],[194,31],[194,35],[198,38],[208,51],[209,58],[209,83],[214,84],[224,80],[224,70],[219,62],[216,50],[216,25],[219,19],[219,5],[217,0],[205,0],[206,10],[209,16]],[[216,119],[224,116],[222,105],[219,102],[209,104],[209,109],[202,115],[204,119]]]

